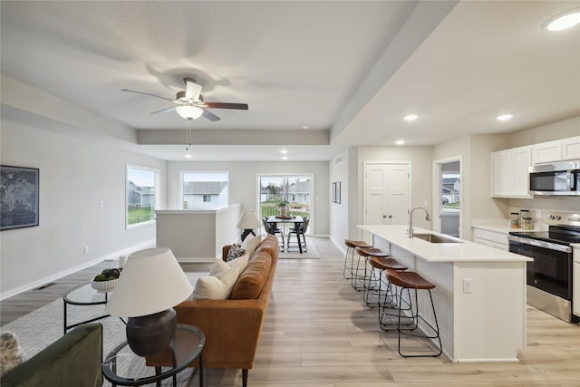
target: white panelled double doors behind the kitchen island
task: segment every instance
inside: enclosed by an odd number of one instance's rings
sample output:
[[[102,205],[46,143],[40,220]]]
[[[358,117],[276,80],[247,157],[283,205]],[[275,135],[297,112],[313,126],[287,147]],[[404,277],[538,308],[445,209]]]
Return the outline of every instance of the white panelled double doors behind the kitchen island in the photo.
[[[365,164],[363,212],[365,225],[407,223],[411,192],[410,170],[408,163]]]

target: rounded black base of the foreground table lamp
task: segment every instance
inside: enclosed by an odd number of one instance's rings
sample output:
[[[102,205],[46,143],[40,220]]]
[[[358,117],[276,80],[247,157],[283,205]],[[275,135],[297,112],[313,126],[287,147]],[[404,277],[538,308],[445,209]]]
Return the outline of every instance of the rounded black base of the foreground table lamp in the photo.
[[[151,356],[168,347],[177,327],[175,309],[160,313],[130,317],[127,321],[127,342],[140,356]]]

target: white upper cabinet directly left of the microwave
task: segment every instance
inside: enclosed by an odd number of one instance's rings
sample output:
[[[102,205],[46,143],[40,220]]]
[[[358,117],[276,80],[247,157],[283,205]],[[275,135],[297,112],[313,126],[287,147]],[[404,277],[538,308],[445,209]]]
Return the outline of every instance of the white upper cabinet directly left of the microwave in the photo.
[[[529,174],[531,148],[520,147],[491,153],[491,196],[494,198],[531,198]]]

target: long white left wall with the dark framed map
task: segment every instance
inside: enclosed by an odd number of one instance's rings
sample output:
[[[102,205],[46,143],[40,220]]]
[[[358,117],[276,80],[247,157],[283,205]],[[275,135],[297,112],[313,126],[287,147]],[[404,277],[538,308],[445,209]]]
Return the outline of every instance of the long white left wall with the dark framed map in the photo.
[[[160,169],[164,184],[165,161],[13,121],[0,124],[2,164],[40,169],[40,226],[0,233],[3,299],[155,238],[154,225],[125,229],[125,165]]]

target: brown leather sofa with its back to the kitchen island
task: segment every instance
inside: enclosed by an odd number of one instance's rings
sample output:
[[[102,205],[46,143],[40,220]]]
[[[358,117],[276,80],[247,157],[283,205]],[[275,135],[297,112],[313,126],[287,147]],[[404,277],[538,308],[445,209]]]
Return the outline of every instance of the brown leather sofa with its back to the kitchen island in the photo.
[[[223,247],[224,260],[229,247]],[[203,367],[241,369],[244,387],[254,365],[279,254],[278,239],[266,237],[250,256],[229,299],[187,300],[175,307],[179,324],[197,326],[206,335]],[[151,356],[147,363],[167,363],[169,359],[162,357]]]

